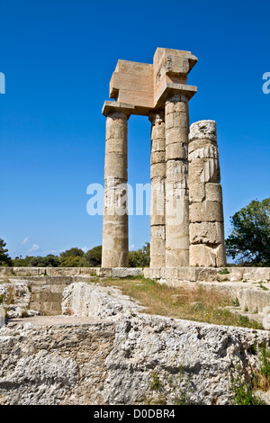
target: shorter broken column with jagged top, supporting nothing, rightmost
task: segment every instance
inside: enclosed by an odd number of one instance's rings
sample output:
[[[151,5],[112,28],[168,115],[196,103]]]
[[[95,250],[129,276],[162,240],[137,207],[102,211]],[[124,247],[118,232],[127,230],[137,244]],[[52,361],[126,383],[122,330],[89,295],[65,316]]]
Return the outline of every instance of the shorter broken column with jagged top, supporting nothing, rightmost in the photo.
[[[226,265],[220,161],[215,121],[190,127],[190,266]]]

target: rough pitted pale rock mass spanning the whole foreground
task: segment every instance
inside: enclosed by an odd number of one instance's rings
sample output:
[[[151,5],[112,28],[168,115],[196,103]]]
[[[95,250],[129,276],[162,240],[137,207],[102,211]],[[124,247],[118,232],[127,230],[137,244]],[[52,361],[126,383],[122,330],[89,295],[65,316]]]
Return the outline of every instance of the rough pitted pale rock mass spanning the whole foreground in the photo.
[[[149,316],[100,284],[69,285],[68,309],[0,329],[2,404],[231,404],[270,342],[266,330]]]

